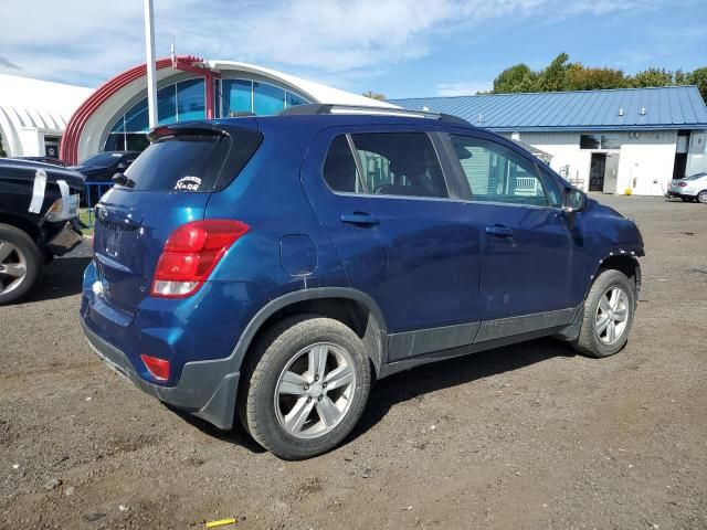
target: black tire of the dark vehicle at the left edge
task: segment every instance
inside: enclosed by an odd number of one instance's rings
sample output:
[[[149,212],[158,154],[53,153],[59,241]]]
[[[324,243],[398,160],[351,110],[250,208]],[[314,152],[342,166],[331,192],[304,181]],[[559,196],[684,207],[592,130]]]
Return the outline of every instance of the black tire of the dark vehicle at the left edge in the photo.
[[[44,255],[27,232],[10,224],[0,223],[0,245],[2,243],[9,243],[13,250],[10,255],[0,256],[0,305],[19,300],[29,294],[41,279],[44,267]],[[20,280],[3,274],[8,265],[19,264],[23,264],[25,269]],[[14,286],[10,287],[11,283]]]

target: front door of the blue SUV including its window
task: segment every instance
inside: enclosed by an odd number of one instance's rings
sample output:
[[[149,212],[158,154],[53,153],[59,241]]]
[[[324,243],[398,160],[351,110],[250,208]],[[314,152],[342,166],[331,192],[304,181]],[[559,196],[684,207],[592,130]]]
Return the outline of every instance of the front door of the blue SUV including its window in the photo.
[[[451,134],[468,214],[482,227],[483,324],[476,342],[569,324],[576,244],[556,184],[492,135]]]

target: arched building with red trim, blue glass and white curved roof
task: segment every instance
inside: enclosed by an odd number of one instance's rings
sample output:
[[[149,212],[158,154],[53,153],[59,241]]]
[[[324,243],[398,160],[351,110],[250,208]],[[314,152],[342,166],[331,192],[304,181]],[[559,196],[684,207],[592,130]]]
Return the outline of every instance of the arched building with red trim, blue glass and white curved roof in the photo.
[[[277,114],[305,103],[392,106],[235,61],[177,56],[158,60],[156,67],[160,125],[239,113]],[[149,130],[146,87],[141,64],[96,88],[67,124],[61,159],[77,163],[98,151],[144,149]]]

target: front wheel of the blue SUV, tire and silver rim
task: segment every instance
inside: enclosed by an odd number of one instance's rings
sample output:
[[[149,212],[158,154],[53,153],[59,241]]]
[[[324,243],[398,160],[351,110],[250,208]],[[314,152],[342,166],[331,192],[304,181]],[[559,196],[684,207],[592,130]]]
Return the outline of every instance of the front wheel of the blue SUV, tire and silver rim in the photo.
[[[636,307],[635,284],[621,271],[602,271],[584,303],[584,318],[572,347],[589,357],[621,351],[629,340]]]

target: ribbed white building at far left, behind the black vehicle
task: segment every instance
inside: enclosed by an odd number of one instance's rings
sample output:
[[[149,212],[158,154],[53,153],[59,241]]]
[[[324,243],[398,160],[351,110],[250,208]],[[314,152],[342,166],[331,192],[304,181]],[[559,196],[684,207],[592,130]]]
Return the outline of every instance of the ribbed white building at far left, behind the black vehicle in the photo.
[[[8,157],[59,158],[74,110],[93,88],[0,74],[0,137]]]

